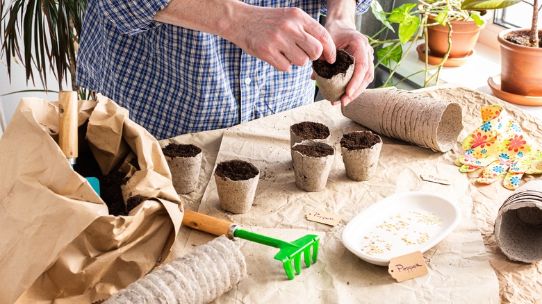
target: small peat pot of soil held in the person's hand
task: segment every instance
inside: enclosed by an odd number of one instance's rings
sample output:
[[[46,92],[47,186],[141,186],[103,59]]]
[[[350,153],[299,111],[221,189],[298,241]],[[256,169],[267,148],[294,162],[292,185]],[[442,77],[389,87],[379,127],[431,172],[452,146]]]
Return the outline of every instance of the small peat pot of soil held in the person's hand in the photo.
[[[340,97],[346,92],[346,85],[350,82],[354,73],[354,56],[343,49],[337,50],[334,63],[326,60],[314,60],[316,83],[322,96],[328,101],[340,101]]]

